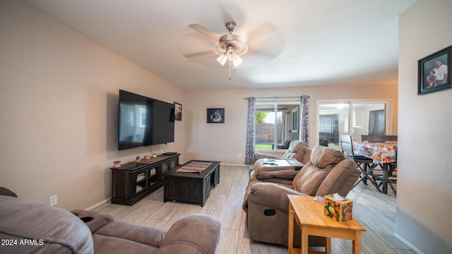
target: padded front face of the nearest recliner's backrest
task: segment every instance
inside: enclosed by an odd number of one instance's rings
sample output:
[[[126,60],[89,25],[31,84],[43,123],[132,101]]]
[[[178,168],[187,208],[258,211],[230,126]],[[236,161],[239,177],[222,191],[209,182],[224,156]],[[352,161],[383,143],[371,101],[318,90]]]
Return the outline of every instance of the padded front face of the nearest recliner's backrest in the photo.
[[[292,181],[295,191],[316,195],[317,189],[336,164],[345,156],[339,150],[317,145],[311,151],[311,162],[304,165]]]

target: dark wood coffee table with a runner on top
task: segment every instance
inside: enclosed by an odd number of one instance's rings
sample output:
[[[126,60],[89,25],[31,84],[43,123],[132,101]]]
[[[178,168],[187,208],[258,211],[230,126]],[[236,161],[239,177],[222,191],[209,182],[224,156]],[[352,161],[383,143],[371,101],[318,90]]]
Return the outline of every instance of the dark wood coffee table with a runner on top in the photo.
[[[199,172],[177,172],[177,169],[191,162],[210,163],[207,169]],[[165,173],[163,202],[182,201],[204,206],[210,191],[220,183],[220,162],[190,160]]]

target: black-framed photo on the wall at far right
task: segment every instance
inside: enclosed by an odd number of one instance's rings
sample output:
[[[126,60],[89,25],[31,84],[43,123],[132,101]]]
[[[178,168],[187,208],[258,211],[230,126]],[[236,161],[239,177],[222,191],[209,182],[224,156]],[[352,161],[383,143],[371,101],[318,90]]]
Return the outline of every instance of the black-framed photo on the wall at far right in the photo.
[[[452,87],[451,74],[448,74],[451,73],[451,53],[452,46],[417,61],[419,66],[417,95]]]

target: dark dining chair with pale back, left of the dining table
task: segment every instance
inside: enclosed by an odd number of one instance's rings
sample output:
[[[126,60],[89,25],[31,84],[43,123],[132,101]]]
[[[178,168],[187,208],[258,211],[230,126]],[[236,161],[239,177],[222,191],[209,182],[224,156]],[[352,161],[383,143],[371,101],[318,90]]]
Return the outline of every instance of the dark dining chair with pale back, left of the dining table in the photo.
[[[352,188],[358,185],[359,182],[362,181],[365,185],[367,185],[367,180],[369,180],[376,188],[378,184],[376,180],[371,177],[372,170],[378,166],[378,164],[374,164],[374,160],[362,155],[355,155],[353,152],[353,143],[351,135],[339,135],[340,149],[344,153],[345,157],[348,159],[352,159],[357,164],[357,168],[362,171],[361,176],[359,176],[359,181],[355,183]]]

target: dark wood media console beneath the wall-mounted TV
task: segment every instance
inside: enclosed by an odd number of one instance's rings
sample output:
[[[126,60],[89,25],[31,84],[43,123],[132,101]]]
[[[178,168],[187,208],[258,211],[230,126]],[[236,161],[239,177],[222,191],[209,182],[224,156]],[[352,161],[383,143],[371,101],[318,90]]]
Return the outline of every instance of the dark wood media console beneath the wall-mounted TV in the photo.
[[[163,186],[163,175],[179,166],[179,153],[158,155],[112,169],[112,204],[133,205]]]

